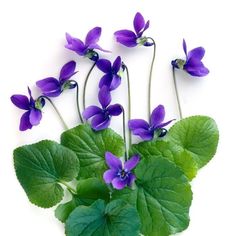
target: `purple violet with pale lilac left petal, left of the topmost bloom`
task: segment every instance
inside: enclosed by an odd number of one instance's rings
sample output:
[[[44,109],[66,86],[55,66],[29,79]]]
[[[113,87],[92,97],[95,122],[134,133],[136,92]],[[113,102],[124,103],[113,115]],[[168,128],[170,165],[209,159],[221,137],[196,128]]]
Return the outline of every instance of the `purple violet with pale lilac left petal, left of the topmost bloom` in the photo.
[[[101,36],[102,28],[95,27],[91,29],[86,38],[85,42],[80,39],[72,37],[70,34],[66,33],[67,44],[65,47],[69,50],[72,50],[79,54],[80,56],[85,56],[91,59],[92,61],[98,60],[98,54],[94,51],[94,49],[98,49],[103,52],[109,52],[107,50],[102,49],[97,42]]]

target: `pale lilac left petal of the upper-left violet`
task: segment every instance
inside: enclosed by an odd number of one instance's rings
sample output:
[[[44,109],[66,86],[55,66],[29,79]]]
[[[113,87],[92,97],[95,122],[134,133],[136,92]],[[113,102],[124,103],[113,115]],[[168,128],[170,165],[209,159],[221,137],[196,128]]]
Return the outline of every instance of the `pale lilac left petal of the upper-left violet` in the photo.
[[[86,54],[87,47],[84,45],[84,43],[77,38],[73,38],[71,35],[66,33],[66,40],[68,44],[65,45],[65,48],[75,51],[80,56],[83,56]]]

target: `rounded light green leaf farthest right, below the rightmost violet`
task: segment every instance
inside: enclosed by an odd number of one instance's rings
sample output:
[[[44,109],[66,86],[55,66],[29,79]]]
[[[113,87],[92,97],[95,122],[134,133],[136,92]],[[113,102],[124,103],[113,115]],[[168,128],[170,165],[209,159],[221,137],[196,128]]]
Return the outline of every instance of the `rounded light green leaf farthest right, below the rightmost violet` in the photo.
[[[179,150],[185,150],[191,154],[198,168],[201,168],[216,153],[219,131],[212,118],[192,116],[180,120],[172,126],[167,139]]]

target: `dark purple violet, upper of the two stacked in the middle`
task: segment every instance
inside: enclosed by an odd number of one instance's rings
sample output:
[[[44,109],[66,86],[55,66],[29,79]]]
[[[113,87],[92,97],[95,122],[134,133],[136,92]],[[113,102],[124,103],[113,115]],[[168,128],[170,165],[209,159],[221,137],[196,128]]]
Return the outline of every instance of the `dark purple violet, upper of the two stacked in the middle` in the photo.
[[[114,63],[106,59],[100,59],[97,61],[97,67],[105,73],[99,83],[99,88],[104,85],[107,86],[110,91],[116,89],[121,83],[121,77],[118,74],[121,69],[121,58],[118,56]]]

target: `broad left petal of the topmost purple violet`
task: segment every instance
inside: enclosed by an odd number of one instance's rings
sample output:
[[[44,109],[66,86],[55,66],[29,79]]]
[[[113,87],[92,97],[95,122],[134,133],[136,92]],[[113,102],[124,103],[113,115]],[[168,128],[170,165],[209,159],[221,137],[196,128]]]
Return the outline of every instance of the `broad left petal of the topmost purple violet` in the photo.
[[[116,41],[125,45],[126,47],[137,46],[137,36],[133,31],[130,30],[119,30],[114,33]]]

